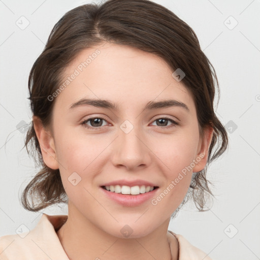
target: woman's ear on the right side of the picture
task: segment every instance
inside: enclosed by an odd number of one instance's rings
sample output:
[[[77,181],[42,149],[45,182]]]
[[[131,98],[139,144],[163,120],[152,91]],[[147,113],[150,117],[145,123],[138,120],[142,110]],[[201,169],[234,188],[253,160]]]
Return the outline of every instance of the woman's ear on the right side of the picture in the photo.
[[[209,155],[209,147],[211,144],[211,140],[213,137],[213,127],[208,125],[206,128],[204,128],[204,138],[200,139],[200,144],[198,146],[198,153],[195,158],[195,167],[193,168],[193,172],[200,172],[202,171],[208,160],[208,155]],[[194,160],[193,160],[194,161]]]

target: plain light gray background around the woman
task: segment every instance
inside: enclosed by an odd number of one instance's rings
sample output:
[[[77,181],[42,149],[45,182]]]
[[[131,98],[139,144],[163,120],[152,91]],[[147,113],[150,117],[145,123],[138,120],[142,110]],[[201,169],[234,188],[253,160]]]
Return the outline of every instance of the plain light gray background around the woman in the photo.
[[[43,212],[68,213],[64,205],[38,213],[20,205],[21,191],[36,169],[22,149],[25,133],[17,125],[31,120],[28,74],[53,25],[70,9],[90,2],[0,1],[0,236],[15,234],[21,224],[31,230]],[[221,94],[217,114],[230,132],[229,150],[208,171],[215,185],[213,207],[197,212],[193,203],[186,204],[169,230],[214,259],[260,259],[260,1],[154,2],[172,10],[196,32],[216,70]],[[24,19],[21,16],[29,21],[23,30],[16,25]]]

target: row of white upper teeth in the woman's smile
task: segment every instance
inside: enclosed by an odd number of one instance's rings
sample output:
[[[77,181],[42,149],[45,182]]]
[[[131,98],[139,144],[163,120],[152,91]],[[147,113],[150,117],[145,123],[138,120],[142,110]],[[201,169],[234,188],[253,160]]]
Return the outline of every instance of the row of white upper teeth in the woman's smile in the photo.
[[[106,190],[109,190],[111,192],[115,192],[115,193],[122,193],[122,194],[132,194],[132,195],[138,195],[138,194],[142,194],[145,192],[149,192],[152,191],[154,189],[153,186],[133,186],[133,187],[129,187],[126,185],[120,186],[120,185],[110,185],[110,186],[105,186]]]

